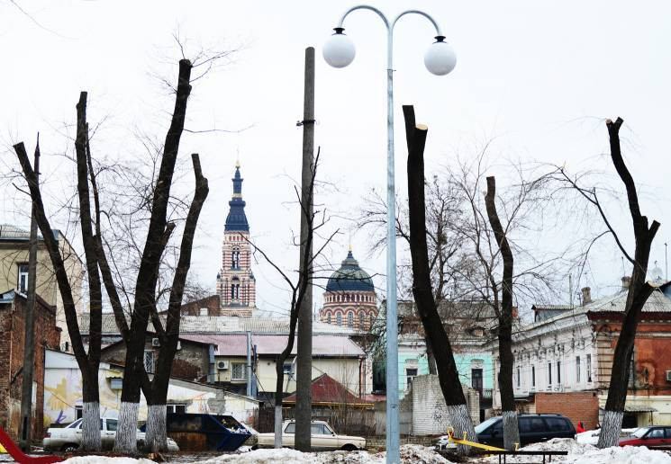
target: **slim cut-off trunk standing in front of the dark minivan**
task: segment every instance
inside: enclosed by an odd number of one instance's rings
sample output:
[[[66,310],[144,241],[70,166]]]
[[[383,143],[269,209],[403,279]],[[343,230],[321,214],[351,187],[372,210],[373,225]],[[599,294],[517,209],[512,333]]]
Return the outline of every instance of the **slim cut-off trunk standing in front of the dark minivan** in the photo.
[[[487,177],[487,192],[485,194],[485,207],[489,224],[494,230],[496,243],[503,257],[503,281],[501,282],[501,308],[498,319],[499,338],[499,388],[501,390],[501,408],[503,410],[503,447],[506,450],[514,450],[515,444],[520,443],[520,429],[517,424],[517,411],[515,408],[515,397],[512,391],[512,269],[513,259],[508,238],[501,225],[496,210],[496,179],[494,176]],[[498,290],[494,286],[494,292]]]

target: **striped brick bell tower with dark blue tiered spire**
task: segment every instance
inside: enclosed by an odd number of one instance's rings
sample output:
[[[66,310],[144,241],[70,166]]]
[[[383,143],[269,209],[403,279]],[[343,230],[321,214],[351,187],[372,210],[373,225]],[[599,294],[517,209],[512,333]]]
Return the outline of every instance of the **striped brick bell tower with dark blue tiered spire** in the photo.
[[[251,317],[256,309],[256,280],[251,272],[249,224],[242,200],[240,163],[235,165],[233,196],[223,231],[222,270],[217,274],[217,294],[222,316]]]

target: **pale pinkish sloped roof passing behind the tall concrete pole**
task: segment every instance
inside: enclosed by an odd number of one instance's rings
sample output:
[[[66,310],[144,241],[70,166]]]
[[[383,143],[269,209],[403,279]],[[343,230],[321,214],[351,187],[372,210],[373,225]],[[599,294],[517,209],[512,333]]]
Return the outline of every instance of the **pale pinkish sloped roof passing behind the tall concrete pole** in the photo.
[[[197,340],[205,344],[217,345],[218,356],[246,356],[247,355],[247,335],[228,334],[228,335],[188,335],[189,340]],[[286,335],[252,335],[251,343],[257,345],[259,355],[277,355],[286,347]],[[296,353],[296,346],[292,354]],[[313,336],[313,356],[320,357],[360,357],[365,352],[352,342],[348,337],[339,335],[314,335]]]

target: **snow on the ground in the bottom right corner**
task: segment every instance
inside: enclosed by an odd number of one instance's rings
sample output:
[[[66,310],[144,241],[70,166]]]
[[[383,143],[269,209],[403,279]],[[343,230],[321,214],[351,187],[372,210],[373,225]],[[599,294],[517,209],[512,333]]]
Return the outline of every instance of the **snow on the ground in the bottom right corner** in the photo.
[[[643,446],[615,446],[599,450],[594,445],[578,443],[571,438],[555,438],[549,442],[533,443],[524,451],[568,451],[567,456],[553,456],[552,462],[575,464],[671,464],[671,455],[664,451],[651,451]],[[480,462],[498,462],[490,456]],[[508,456],[506,462],[538,462],[539,456]]]

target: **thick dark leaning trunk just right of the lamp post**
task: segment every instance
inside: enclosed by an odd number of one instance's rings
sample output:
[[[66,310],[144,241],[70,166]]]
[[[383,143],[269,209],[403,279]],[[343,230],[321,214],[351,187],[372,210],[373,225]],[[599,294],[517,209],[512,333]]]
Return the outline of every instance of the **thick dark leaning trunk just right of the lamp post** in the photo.
[[[426,205],[424,200],[424,144],[426,126],[416,125],[412,106],[404,105],[405,137],[408,144],[408,216],[410,223],[410,253],[413,258],[413,295],[422,325],[436,357],[440,389],[448,406],[449,422],[457,436],[467,434],[477,440],[473,422],[468,414],[466,397],[459,380],[457,364],[445,328],[440,320],[431,290],[429,252],[426,243]],[[458,451],[470,452],[459,445]]]

